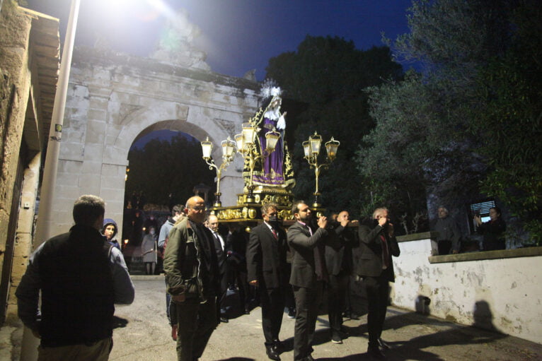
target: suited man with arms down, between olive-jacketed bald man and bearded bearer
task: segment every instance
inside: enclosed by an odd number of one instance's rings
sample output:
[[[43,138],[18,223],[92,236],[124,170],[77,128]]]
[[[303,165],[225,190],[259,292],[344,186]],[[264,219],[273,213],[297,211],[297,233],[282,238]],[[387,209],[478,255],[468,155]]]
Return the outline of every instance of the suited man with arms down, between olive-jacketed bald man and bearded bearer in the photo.
[[[284,312],[286,233],[279,227],[275,203],[262,206],[263,223],[250,231],[246,251],[248,283],[258,286],[262,305],[262,328],[267,356],[280,360],[279,332]]]

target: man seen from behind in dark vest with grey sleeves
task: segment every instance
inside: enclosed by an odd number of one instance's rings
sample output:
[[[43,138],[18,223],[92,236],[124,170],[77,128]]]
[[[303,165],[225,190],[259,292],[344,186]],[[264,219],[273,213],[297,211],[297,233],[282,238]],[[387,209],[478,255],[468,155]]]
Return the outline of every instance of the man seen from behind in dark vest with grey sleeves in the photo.
[[[30,256],[16,296],[23,324],[41,338],[38,360],[109,358],[114,303],[131,304],[134,285],[122,253],[100,233],[104,213],[103,199],[80,196],[75,225]]]

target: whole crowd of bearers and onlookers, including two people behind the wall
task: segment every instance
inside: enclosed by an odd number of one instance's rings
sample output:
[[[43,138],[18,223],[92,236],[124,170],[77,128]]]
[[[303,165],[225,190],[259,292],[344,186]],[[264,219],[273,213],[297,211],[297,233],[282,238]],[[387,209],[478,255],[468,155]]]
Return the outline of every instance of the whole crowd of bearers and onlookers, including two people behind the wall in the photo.
[[[376,208],[369,222],[358,224],[348,211],[332,219],[315,217],[304,201],[296,201],[295,222],[287,230],[278,211],[275,203],[263,204],[263,223],[250,233],[233,223],[227,233],[221,232],[217,216],[207,213],[200,196],[173,206],[159,228],[149,218],[142,254],[148,274],[163,256],[166,311],[178,360],[200,358],[217,325],[228,322],[228,289],[238,292],[246,314],[258,300],[270,360],[280,360],[284,352],[279,335],[285,309],[295,318],[294,360],[314,360],[313,337],[323,301],[328,304],[330,340],[340,344],[349,336],[342,317],[352,278],[367,292],[367,353],[384,359],[390,348],[381,333],[389,282],[395,279],[392,256],[400,254],[388,209]],[[30,256],[16,296],[18,315],[41,340],[39,360],[108,360],[114,304],[132,303],[134,285],[115,238],[117,224],[104,215],[102,199],[79,197],[75,225]],[[488,222],[478,215],[474,221],[484,235],[484,249],[504,248],[500,235],[505,225],[498,208],[491,208]],[[444,207],[439,208],[437,228],[439,252],[458,251],[459,232]],[[359,261],[352,259],[353,248]]]

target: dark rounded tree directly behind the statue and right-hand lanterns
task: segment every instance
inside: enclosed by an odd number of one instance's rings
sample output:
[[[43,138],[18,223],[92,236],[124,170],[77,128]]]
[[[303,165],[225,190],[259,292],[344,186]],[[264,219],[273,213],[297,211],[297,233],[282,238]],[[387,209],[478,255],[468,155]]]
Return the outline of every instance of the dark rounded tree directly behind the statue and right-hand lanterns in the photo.
[[[285,90],[285,98],[306,104],[299,114],[290,117],[289,112],[287,116],[287,134],[294,141],[290,149],[296,198],[311,201],[313,197],[314,173],[303,158],[301,143],[318,131],[324,141],[331,136],[340,141],[338,158],[319,179],[321,201],[329,211],[347,208],[359,214],[364,184],[354,167],[356,150],[362,136],[374,126],[363,89],[384,79],[399,79],[401,66],[391,60],[388,47],[362,51],[339,37],[307,36],[296,52],[270,59],[266,70],[267,78],[275,79]]]

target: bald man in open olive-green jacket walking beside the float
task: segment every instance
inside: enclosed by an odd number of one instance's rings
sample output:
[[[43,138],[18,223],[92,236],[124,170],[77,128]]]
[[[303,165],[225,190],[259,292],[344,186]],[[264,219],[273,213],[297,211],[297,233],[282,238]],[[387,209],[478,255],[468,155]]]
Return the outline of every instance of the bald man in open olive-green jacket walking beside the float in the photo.
[[[163,270],[177,315],[178,360],[193,361],[202,357],[217,327],[220,285],[213,236],[203,225],[203,199],[188,199],[185,214],[169,232]]]

